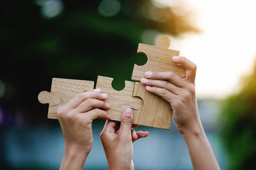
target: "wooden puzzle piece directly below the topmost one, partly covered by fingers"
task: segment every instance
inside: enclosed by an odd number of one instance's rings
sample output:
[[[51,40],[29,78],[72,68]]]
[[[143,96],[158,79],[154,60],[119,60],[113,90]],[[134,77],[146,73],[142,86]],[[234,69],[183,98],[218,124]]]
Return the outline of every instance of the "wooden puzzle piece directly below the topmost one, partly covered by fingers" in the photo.
[[[135,124],[170,129],[172,107],[166,100],[148,92],[140,82],[135,82],[133,96],[143,99],[143,107],[134,111]]]

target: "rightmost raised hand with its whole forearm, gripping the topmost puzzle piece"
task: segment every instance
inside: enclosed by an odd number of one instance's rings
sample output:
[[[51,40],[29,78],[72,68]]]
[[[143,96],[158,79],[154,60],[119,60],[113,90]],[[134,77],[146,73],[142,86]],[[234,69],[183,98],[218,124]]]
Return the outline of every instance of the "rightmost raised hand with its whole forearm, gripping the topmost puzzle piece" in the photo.
[[[146,72],[141,83],[172,106],[175,124],[186,142],[194,169],[220,169],[198,113],[196,65],[184,57],[173,57],[173,61],[186,68],[184,79],[173,72]]]

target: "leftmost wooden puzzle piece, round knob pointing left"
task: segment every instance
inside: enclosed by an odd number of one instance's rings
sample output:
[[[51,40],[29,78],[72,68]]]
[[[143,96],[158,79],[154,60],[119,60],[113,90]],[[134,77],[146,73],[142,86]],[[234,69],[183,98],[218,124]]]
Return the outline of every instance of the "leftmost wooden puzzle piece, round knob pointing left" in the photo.
[[[42,91],[38,95],[41,104],[49,104],[48,118],[57,119],[57,109],[78,93],[93,89],[93,81],[52,78],[51,92]]]

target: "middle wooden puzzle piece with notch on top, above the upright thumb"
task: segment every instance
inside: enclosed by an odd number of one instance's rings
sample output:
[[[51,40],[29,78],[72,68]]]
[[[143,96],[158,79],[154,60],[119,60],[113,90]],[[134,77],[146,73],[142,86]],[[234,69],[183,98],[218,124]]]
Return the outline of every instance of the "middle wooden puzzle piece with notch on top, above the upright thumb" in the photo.
[[[142,107],[143,100],[139,97],[132,97],[135,82],[125,81],[125,88],[116,91],[112,88],[112,81],[112,78],[98,76],[96,88],[100,88],[102,93],[108,94],[105,101],[110,104],[107,112],[110,114],[111,120],[120,121],[122,113],[127,107],[138,110]]]

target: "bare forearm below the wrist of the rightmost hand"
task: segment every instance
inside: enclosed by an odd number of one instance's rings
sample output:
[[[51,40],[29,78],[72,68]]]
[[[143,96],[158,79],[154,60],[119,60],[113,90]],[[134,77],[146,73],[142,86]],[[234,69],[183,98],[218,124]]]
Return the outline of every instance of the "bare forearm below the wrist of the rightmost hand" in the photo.
[[[188,146],[194,169],[220,169],[202,125],[200,132],[183,134],[182,136]]]

